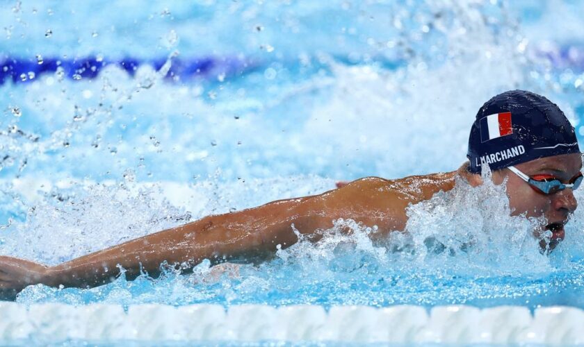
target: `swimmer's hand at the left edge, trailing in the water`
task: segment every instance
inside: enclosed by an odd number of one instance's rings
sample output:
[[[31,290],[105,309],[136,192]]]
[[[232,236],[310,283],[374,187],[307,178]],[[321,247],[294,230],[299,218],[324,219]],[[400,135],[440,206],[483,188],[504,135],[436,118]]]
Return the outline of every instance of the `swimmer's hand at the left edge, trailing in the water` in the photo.
[[[24,287],[45,283],[48,269],[29,260],[0,256],[0,299],[14,300]]]

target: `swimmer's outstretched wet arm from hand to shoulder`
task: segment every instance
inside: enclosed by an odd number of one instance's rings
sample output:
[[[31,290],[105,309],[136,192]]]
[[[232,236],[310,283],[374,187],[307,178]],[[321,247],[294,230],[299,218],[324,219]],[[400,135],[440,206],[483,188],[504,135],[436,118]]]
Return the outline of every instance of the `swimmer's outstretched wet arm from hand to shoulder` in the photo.
[[[380,179],[379,179],[380,180]],[[403,202],[387,192],[371,196],[371,184],[361,180],[347,187],[318,196],[275,201],[266,205],[209,216],[193,223],[156,232],[124,244],[76,258],[57,266],[46,267],[26,260],[0,257],[0,291],[19,291],[27,285],[43,283],[58,287],[95,287],[115,279],[118,265],[129,279],[141,271],[156,277],[160,265],[168,262],[188,270],[204,259],[213,264],[224,261],[256,262],[273,256],[277,245],[286,248],[298,241],[298,232],[314,235],[317,230],[332,227],[333,219],[352,218],[365,225],[378,225],[380,230],[403,230]],[[389,201],[389,212],[375,201]],[[371,213],[377,209],[378,212]],[[371,217],[387,211],[385,216]],[[396,217],[403,214],[403,217]],[[387,216],[390,218],[386,218]],[[384,223],[389,223],[385,225]]]

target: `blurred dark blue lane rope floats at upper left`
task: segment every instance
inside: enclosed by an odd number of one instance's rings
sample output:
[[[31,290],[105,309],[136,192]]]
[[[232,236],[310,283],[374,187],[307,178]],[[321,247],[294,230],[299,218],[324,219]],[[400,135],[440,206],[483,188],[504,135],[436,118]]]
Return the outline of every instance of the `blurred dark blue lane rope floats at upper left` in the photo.
[[[0,57],[0,85],[11,81],[13,83],[27,83],[33,81],[42,74],[54,74],[62,71],[63,77],[74,80],[95,78],[108,65],[117,65],[131,76],[141,65],[149,65],[159,70],[168,58],[138,59],[123,58],[120,60],[107,60],[101,57],[85,58],[14,58]],[[257,63],[238,57],[203,56],[200,58],[181,59],[173,58],[172,65],[166,74],[171,81],[188,80],[191,78],[216,78],[223,74],[235,76],[251,71],[257,67]]]

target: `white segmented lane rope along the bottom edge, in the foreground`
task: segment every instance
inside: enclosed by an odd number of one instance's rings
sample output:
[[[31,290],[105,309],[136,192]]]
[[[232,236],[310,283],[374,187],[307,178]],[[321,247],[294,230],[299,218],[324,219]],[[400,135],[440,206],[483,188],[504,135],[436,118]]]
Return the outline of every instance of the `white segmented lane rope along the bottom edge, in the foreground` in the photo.
[[[574,307],[464,305],[20,305],[0,302],[0,343],[22,341],[343,341],[394,344],[581,344]]]

